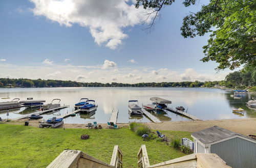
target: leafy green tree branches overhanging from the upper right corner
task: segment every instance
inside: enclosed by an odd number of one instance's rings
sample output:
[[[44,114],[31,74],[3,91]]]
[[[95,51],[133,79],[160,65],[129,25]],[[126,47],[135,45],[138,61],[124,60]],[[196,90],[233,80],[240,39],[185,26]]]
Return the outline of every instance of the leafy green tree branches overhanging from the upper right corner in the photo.
[[[199,0],[198,0],[199,1]],[[154,26],[159,11],[175,0],[136,0],[140,5],[151,8],[148,15],[155,15],[150,27]],[[183,0],[188,7],[196,0]],[[203,46],[203,62],[219,63],[217,69],[231,70],[244,65],[252,70],[256,66],[256,1],[253,0],[210,0],[197,13],[190,12],[183,18],[181,35],[194,38],[210,33],[208,44]],[[146,18],[150,18],[147,16]],[[212,30],[214,28],[214,30]]]

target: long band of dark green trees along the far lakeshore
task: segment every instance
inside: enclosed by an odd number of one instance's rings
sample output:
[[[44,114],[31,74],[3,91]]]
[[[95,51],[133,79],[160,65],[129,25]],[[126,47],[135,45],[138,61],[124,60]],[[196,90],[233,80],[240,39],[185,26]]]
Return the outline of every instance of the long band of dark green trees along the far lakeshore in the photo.
[[[0,87],[46,88],[46,87],[222,87],[245,89],[256,85],[256,69],[254,71],[235,71],[229,73],[221,81],[182,81],[182,82],[140,82],[140,83],[100,83],[77,82],[71,80],[44,80],[26,78],[0,78]]]

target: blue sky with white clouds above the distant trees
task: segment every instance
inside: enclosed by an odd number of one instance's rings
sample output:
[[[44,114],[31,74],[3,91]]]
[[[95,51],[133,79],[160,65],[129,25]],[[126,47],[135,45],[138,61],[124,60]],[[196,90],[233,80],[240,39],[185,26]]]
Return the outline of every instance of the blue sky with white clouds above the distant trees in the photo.
[[[180,1],[160,12],[148,33],[150,9],[130,0],[0,1],[0,77],[79,82],[222,80],[215,62],[203,63],[209,35],[183,38],[182,19],[207,1]],[[148,18],[151,21],[152,17]]]

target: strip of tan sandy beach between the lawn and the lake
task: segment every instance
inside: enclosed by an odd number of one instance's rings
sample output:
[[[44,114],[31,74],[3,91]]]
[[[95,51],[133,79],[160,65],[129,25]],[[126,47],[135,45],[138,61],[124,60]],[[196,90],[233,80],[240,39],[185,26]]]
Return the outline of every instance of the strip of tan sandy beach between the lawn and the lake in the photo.
[[[6,124],[24,125],[28,120],[10,121]],[[29,126],[38,127],[38,120],[29,120]],[[225,119],[225,120],[205,120],[205,121],[174,121],[162,123],[143,123],[154,130],[171,130],[171,131],[187,131],[197,132],[212,126],[219,126],[233,132],[243,135],[256,134],[256,118],[246,119]],[[64,124],[60,128],[79,128],[88,129],[87,124]],[[98,124],[103,128],[109,128],[108,124]],[[129,123],[117,123],[119,128],[129,127]]]

